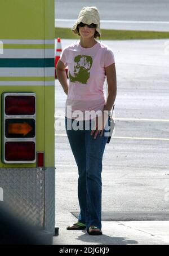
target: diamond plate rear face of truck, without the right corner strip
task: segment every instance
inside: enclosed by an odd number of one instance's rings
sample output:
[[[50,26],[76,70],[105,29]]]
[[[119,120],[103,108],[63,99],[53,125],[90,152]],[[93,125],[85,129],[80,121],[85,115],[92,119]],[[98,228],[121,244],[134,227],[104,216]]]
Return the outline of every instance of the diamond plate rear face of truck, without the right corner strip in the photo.
[[[44,170],[38,168],[1,168],[0,187],[10,210],[34,226],[43,227]]]

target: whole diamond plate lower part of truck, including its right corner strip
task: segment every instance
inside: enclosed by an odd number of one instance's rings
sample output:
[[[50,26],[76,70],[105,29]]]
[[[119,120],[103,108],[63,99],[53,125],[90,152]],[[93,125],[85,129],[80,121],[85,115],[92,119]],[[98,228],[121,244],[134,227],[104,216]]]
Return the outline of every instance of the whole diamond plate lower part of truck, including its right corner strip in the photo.
[[[3,200],[26,222],[55,231],[55,167],[0,168]]]

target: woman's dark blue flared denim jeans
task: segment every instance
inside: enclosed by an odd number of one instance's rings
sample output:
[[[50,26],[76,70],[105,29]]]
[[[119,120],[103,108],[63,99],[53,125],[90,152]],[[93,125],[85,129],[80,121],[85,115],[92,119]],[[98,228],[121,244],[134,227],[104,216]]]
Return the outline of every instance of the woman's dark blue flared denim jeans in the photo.
[[[70,130],[72,123],[82,129]],[[85,130],[85,123],[90,129]],[[101,171],[108,137],[104,136],[105,127],[103,135],[98,134],[94,139],[94,135],[90,135],[91,125],[91,120],[78,122],[65,117],[66,134],[78,167],[78,200],[81,210],[78,221],[86,224],[86,228],[96,226],[101,229]]]

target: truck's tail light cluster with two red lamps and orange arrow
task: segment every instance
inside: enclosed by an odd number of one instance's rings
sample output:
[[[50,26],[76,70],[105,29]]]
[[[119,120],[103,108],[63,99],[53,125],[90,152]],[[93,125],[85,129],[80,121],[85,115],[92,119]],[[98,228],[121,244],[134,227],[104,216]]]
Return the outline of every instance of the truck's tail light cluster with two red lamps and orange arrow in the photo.
[[[2,161],[36,161],[36,96],[33,92],[2,94]]]

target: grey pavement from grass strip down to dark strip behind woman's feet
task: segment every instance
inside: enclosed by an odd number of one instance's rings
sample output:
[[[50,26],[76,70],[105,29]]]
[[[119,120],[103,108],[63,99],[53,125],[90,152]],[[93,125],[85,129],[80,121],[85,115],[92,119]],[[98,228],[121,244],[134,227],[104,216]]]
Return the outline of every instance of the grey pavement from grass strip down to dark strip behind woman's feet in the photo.
[[[72,40],[62,40],[62,46]],[[103,161],[103,211],[154,212],[169,206],[169,96],[165,40],[104,41],[115,56],[115,135]],[[106,85],[104,87],[106,92]],[[57,213],[77,212],[77,166],[64,128],[66,95],[56,81]],[[59,117],[60,116],[60,117]],[[168,212],[167,212],[168,213]],[[134,215],[133,215],[134,216]],[[121,216],[119,215],[119,218]],[[108,219],[108,217],[106,217]]]

